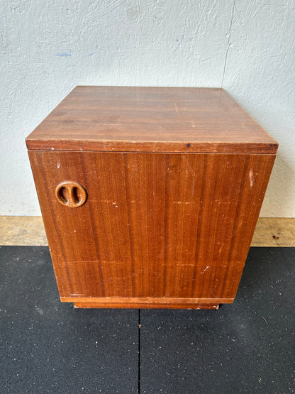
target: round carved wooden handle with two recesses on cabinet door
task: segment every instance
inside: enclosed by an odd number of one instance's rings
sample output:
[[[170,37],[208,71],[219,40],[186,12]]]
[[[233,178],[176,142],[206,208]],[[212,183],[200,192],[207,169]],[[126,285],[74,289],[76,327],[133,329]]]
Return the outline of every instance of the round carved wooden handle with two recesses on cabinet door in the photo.
[[[72,180],[65,180],[57,185],[55,196],[60,204],[69,208],[81,207],[87,200],[87,191],[82,185]]]

